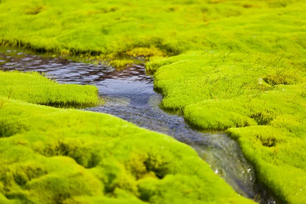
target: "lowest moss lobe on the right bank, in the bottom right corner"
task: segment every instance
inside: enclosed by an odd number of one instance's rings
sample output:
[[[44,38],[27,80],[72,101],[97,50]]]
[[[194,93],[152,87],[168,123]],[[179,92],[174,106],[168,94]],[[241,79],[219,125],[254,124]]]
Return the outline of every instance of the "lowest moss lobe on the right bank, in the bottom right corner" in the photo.
[[[288,124],[287,124],[288,125]],[[257,174],[276,195],[289,203],[306,200],[305,134],[273,126],[250,126],[229,129],[247,159],[257,169]],[[305,130],[305,123],[303,124]]]

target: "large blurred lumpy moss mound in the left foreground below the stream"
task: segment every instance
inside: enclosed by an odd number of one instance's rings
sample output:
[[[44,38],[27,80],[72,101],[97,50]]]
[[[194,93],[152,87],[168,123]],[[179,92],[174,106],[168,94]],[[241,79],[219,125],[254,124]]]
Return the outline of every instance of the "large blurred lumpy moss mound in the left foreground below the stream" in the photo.
[[[2,101],[7,203],[253,203],[171,137],[107,114]]]

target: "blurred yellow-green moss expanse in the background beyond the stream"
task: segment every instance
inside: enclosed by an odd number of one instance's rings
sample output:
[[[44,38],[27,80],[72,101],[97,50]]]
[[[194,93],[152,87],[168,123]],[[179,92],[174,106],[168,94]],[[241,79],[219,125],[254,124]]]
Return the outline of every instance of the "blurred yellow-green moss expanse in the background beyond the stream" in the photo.
[[[302,0],[2,0],[0,41],[63,55],[296,52],[305,9]]]

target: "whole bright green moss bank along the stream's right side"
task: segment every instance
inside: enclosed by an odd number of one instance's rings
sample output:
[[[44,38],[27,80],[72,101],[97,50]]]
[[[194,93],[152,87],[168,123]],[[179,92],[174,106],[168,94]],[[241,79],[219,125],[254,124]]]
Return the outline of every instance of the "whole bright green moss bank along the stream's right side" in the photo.
[[[183,111],[200,129],[227,130],[279,198],[306,202],[306,67],[299,58],[203,53],[156,59],[147,69],[157,70],[165,109]]]

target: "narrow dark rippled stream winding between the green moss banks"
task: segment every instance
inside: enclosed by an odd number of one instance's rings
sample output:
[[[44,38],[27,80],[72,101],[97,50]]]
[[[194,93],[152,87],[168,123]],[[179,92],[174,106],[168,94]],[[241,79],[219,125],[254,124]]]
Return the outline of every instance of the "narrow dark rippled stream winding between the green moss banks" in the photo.
[[[187,143],[238,193],[260,200],[260,203],[276,203],[269,191],[256,182],[252,165],[244,159],[234,140],[223,133],[193,130],[183,117],[159,108],[162,96],[154,91],[153,79],[145,74],[143,65],[116,70],[104,65],[6,50],[6,53],[0,53],[0,67],[5,70],[46,72],[48,77],[59,83],[95,85],[106,104],[85,110],[109,113]],[[259,195],[261,199],[257,199]]]

